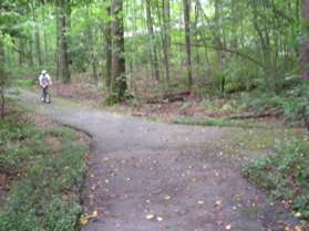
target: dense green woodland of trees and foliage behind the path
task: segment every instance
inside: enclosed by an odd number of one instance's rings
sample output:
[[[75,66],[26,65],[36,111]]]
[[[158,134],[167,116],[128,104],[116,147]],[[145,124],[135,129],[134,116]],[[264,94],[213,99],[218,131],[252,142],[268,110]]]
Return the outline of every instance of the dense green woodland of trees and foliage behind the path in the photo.
[[[64,83],[90,73],[116,102],[141,80],[143,88],[161,91],[275,95],[300,82],[301,54],[308,78],[306,7],[300,0],[2,1],[1,66],[32,78],[45,69]]]

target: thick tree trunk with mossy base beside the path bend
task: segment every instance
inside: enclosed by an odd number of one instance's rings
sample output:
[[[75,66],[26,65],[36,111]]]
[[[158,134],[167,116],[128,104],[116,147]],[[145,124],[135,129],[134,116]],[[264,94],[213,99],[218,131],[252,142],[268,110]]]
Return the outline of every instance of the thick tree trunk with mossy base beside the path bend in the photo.
[[[126,91],[123,0],[112,1],[112,82],[110,104],[124,101]]]

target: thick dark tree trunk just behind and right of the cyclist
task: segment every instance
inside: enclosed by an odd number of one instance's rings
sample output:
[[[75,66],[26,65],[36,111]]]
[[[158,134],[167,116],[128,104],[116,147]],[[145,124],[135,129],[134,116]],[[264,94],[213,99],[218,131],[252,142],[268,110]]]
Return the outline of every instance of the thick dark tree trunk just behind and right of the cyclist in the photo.
[[[60,76],[63,83],[69,83],[71,81],[70,74],[70,55],[69,55],[69,18],[68,15],[68,0],[60,1]]]

